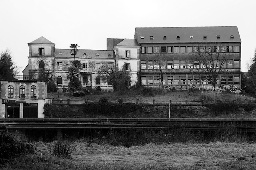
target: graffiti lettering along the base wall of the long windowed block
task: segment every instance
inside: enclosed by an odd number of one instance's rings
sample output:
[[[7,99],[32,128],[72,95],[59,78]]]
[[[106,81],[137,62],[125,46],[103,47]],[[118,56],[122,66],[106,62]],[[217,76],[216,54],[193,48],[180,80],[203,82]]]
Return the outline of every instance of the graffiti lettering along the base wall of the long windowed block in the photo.
[[[199,90],[199,87],[202,85],[171,85],[171,90],[189,90],[192,88],[193,90]],[[237,85],[216,85],[216,89],[221,91],[230,90],[231,92],[236,92],[239,87]],[[170,85],[164,85],[164,89],[170,89]]]

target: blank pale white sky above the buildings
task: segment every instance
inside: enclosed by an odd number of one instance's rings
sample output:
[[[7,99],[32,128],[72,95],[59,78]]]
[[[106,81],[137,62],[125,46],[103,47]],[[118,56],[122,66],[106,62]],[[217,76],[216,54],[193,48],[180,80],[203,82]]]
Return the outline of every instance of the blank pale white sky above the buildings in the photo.
[[[28,43],[106,50],[107,38],[134,38],[136,27],[238,26],[242,71],[256,49],[255,0],[0,0],[0,52],[20,67]]]

